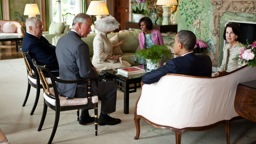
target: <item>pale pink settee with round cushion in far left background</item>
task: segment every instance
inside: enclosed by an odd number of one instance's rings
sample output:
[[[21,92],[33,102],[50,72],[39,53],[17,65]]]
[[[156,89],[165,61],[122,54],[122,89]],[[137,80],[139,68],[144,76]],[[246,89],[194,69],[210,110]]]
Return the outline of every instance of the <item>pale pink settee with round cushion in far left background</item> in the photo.
[[[0,36],[17,35],[23,36],[22,26],[17,21],[12,20],[0,20]]]

